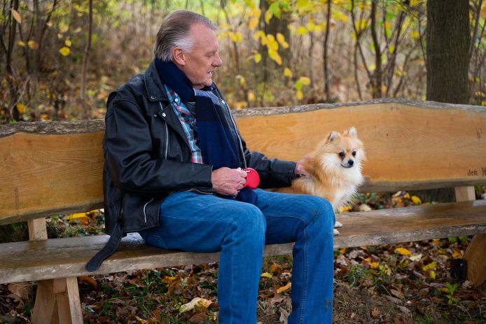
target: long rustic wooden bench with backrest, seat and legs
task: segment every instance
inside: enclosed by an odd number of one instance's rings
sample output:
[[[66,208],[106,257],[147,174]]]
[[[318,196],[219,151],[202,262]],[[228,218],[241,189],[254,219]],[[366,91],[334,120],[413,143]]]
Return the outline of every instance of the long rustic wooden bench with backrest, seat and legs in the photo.
[[[298,160],[331,130],[356,127],[366,147],[362,192],[456,188],[457,202],[342,213],[335,248],[475,235],[468,280],[486,277],[486,108],[401,100],[236,111],[249,148]],[[46,216],[102,207],[104,121],[0,126],[0,225],[27,220],[29,241],[0,244],[0,283],[37,281],[33,323],[82,323],[77,276],[215,262],[217,253],[144,245],[129,234],[97,272],[85,263],[106,235],[47,239]],[[291,253],[266,246],[265,255]]]

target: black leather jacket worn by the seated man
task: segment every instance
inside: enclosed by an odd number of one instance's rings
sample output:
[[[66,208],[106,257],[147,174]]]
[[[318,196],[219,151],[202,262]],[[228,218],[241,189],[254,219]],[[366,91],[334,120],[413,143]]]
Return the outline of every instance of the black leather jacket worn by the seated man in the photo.
[[[221,92],[221,109],[235,125]],[[212,195],[212,166],[190,162],[190,148],[181,122],[169,104],[152,62],[109,95],[104,136],[104,212],[106,232],[117,221],[123,232],[159,225],[159,208],[170,192],[194,191]],[[252,167],[261,188],[290,185],[295,162],[267,159],[250,152],[235,125],[241,167]]]

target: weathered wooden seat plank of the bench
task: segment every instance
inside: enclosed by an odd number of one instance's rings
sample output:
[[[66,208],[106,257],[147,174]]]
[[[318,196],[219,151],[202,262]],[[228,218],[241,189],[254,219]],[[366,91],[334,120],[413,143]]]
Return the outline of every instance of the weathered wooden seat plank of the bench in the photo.
[[[344,225],[335,248],[393,244],[486,232],[486,200],[399,209],[342,213]],[[184,253],[147,246],[129,234],[97,272],[84,265],[108,240],[107,235],[0,244],[0,283],[108,274],[135,269],[216,262],[218,253]],[[291,253],[293,244],[265,247],[265,255]]]

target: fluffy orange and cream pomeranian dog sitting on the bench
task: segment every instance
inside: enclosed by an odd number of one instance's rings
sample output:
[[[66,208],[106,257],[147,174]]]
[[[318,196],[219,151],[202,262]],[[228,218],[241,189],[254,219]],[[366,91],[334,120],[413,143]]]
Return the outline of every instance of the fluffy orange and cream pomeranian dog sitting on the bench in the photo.
[[[303,167],[310,176],[296,178],[291,187],[278,191],[324,197],[338,211],[363,183],[361,162],[365,159],[363,143],[354,127],[343,134],[331,132],[304,160]],[[335,227],[341,226],[336,222]],[[334,234],[339,234],[338,230],[334,230]]]

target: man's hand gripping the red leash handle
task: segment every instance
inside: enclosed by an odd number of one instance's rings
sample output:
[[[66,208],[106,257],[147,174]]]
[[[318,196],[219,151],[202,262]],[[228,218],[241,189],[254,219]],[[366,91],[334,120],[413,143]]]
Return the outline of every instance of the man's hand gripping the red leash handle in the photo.
[[[222,167],[211,173],[214,192],[225,196],[238,195],[239,190],[242,190],[244,183],[247,182],[245,178],[247,178],[247,172],[241,168]]]

